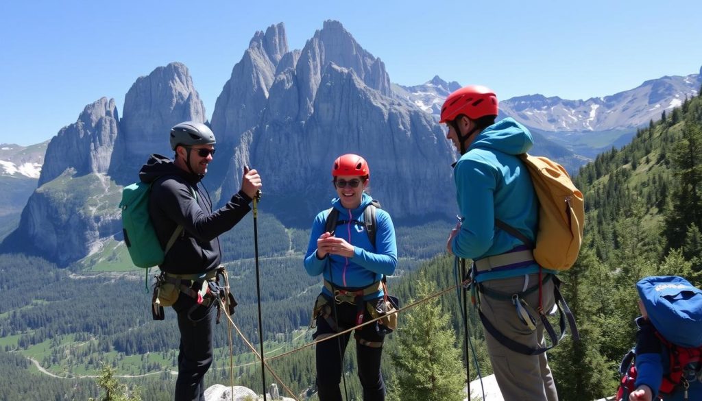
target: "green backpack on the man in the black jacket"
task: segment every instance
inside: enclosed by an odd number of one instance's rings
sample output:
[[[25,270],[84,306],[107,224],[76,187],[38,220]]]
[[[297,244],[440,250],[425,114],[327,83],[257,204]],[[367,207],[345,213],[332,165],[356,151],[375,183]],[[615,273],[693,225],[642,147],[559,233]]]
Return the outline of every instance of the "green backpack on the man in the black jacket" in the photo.
[[[122,213],[124,243],[127,246],[132,263],[138,268],[151,268],[164,263],[166,254],[171,250],[171,246],[176,242],[178,235],[183,232],[183,225],[178,225],[176,231],[168,239],[166,249],[161,248],[161,243],[149,216],[151,185],[141,181],[127,185],[122,190],[122,200],[119,202],[119,208]],[[194,192],[190,185],[188,188],[190,188],[192,196],[197,200],[197,193]]]

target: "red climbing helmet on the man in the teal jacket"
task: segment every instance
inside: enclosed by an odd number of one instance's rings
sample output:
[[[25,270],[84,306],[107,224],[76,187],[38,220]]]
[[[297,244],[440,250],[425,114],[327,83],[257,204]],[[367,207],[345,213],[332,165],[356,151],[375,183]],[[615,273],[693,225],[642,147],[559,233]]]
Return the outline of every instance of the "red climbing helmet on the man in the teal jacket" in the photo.
[[[453,121],[461,114],[469,119],[497,115],[497,96],[486,86],[469,85],[453,91],[444,101],[439,123]]]

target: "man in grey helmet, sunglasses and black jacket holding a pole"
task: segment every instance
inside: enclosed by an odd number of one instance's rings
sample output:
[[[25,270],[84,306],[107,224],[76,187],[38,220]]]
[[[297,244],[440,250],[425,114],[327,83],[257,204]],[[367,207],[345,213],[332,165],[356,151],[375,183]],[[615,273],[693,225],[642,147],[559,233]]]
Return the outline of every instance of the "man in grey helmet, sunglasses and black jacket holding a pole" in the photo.
[[[207,173],[215,153],[215,136],[208,126],[185,121],[171,129],[171,161],[152,155],[139,172],[144,183],[152,183],[149,213],[161,246],[183,226],[164,263],[159,267],[170,280],[180,280],[181,291],[173,309],[178,313],[180,353],[176,401],[204,401],[204,376],[212,364],[213,301],[203,302],[208,280],[216,275],[222,251],[218,236],[231,230],[251,210],[249,203],[261,188],[256,170],[244,171],[241,190],[225,206],[212,211],[197,183]]]

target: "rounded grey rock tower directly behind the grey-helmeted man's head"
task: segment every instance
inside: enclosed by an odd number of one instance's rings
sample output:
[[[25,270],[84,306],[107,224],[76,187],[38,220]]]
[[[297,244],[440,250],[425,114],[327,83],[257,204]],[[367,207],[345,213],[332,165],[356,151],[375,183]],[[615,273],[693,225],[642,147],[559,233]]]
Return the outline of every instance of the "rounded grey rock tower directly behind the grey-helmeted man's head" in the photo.
[[[124,98],[110,176],[118,183],[131,183],[152,153],[172,157],[168,133],[183,121],[206,121],[204,104],[185,65],[171,63],[138,78]]]

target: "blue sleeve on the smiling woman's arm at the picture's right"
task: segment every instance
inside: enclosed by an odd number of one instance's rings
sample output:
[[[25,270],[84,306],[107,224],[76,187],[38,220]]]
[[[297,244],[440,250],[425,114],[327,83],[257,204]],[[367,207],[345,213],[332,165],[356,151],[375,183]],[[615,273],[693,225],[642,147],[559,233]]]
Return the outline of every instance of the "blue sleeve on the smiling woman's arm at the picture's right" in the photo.
[[[354,246],[353,263],[381,275],[392,275],[397,267],[397,243],[395,226],[390,214],[378,209],[376,214],[378,231],[376,232],[376,252],[366,251]]]

